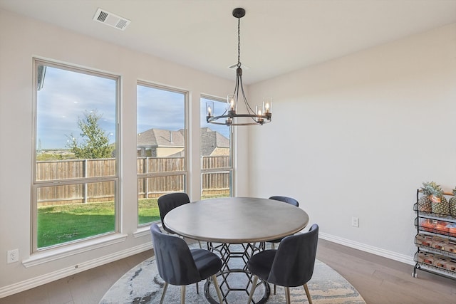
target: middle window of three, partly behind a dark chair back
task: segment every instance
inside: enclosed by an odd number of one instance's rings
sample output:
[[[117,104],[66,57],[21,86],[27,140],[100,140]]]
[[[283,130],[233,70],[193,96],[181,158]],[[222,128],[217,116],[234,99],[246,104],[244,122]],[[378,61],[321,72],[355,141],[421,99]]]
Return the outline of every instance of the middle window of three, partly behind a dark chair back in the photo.
[[[186,192],[187,92],[137,86],[138,224],[160,221],[157,198]]]

